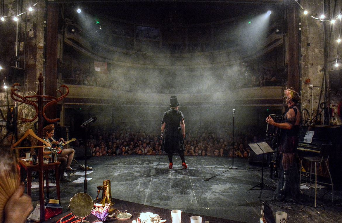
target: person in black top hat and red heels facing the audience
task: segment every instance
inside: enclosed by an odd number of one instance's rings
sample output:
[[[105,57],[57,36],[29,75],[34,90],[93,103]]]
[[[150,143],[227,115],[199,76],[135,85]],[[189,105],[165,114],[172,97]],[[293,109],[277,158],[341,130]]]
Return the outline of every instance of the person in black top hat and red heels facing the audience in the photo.
[[[179,103],[176,96],[170,98],[170,109],[163,115],[161,121],[161,149],[164,150],[169,157],[169,169],[172,169],[172,153],[177,152],[182,159],[183,169],[187,168],[184,158],[184,138],[185,138],[185,123],[184,116],[181,111],[178,111]]]

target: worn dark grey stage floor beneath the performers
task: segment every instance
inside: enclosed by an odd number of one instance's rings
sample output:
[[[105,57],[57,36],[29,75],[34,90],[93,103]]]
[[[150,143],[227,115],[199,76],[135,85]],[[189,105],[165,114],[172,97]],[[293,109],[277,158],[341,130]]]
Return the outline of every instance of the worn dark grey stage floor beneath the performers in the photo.
[[[198,215],[241,221],[260,222],[260,199],[269,201],[273,191],[249,190],[261,182],[261,167],[251,166],[248,160],[236,158],[234,166],[229,169],[232,159],[227,157],[186,156],[187,169],[182,169],[179,156],[173,158],[173,170],[168,169],[167,156],[117,156],[92,157],[88,165],[94,172],[87,175],[93,178],[88,181],[88,194],[96,198],[97,186],[103,180],[111,181],[113,198],[131,201],[166,209],[180,209]],[[78,160],[79,164],[83,160]],[[77,165],[73,162],[73,168]],[[269,169],[265,170],[264,182],[276,186],[269,177]],[[220,174],[220,175],[219,175]],[[219,175],[219,176],[216,176]],[[216,177],[214,177],[216,176]],[[73,176],[73,181],[82,176]],[[213,178],[211,178],[213,177]],[[209,179],[211,178],[211,179]],[[51,193],[52,192],[52,193]],[[63,211],[68,211],[69,199],[76,193],[84,192],[83,183],[61,183],[61,202]],[[314,193],[314,191],[312,190]],[[319,198],[327,190],[319,190]],[[32,202],[39,202],[38,189],[32,189]],[[50,189],[50,197],[56,197],[55,189]],[[102,191],[100,192],[100,197]],[[341,203],[342,192],[334,193],[334,203]],[[281,203],[290,209],[281,209],[270,204],[274,212],[287,212],[288,222],[340,222],[342,207],[331,203],[331,192],[318,200],[322,207],[315,209],[313,198],[308,198],[308,191],[299,199],[301,204]],[[302,211],[299,211],[303,209]],[[324,210],[323,210],[324,209]],[[162,217],[162,216],[161,216]],[[203,219],[205,220],[205,219]],[[187,221],[184,221],[187,222]]]

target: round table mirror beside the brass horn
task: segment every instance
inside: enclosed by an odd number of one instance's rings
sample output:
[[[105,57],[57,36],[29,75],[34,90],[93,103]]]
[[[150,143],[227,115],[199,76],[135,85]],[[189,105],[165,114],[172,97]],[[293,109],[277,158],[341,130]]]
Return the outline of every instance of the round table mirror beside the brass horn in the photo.
[[[70,199],[69,210],[76,218],[82,219],[87,217],[93,208],[93,198],[87,193],[77,193]]]

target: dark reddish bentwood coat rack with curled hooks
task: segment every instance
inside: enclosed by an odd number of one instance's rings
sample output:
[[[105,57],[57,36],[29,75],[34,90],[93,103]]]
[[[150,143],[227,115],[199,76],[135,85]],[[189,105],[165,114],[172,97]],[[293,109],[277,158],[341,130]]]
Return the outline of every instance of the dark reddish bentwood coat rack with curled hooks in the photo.
[[[49,106],[56,104],[58,101],[63,100],[68,94],[69,94],[69,88],[66,85],[61,85],[60,88],[64,88],[66,92],[63,94],[62,90],[57,89],[56,92],[60,93],[60,97],[54,97],[54,96],[48,96],[48,95],[43,95],[43,81],[44,77],[40,73],[38,77],[38,92],[36,95],[29,95],[29,96],[21,96],[17,92],[19,89],[17,86],[21,86],[19,83],[15,83],[11,87],[11,97],[13,100],[22,102],[25,104],[28,104],[30,106],[33,106],[35,108],[36,114],[33,118],[27,119],[23,117],[21,120],[23,122],[33,122],[37,119],[38,117],[38,137],[42,138],[43,136],[43,124],[44,124],[44,119],[50,123],[52,122],[57,122],[60,119],[55,118],[55,119],[49,119],[45,115],[45,110]],[[16,124],[16,123],[15,123]],[[38,141],[38,145],[42,146],[42,142]],[[38,150],[38,159],[39,161],[43,160],[43,150]],[[44,179],[43,179],[43,162],[39,162],[39,204],[40,204],[40,222],[45,221],[45,210],[44,210]]]

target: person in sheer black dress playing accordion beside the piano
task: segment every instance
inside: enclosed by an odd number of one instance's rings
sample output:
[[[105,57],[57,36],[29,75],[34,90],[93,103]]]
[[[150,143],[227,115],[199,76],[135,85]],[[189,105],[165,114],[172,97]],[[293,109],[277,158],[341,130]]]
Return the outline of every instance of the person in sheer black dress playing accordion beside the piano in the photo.
[[[283,114],[282,123],[274,122],[271,116],[267,117],[266,122],[282,129],[278,147],[281,165],[275,198],[293,201],[299,194],[299,172],[296,157],[299,125],[301,123],[301,114],[297,107],[300,97],[292,88],[288,88],[284,91],[284,98],[288,109]],[[284,171],[281,171],[282,169]]]

